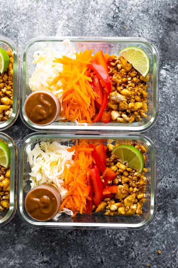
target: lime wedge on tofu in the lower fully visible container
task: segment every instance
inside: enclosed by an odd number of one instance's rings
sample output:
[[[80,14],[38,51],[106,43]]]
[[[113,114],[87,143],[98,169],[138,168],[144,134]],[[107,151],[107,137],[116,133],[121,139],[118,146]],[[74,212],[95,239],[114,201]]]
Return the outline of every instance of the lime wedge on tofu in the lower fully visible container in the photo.
[[[112,152],[121,163],[142,173],[144,168],[144,160],[141,152],[132,145],[122,144],[115,147]]]

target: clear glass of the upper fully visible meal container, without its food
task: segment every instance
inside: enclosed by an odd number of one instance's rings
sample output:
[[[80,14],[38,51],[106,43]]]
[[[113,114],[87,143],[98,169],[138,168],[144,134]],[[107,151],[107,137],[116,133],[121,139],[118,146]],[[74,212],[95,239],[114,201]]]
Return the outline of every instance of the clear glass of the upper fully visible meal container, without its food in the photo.
[[[103,53],[109,55],[117,54],[121,49],[135,46],[143,49],[150,59],[150,80],[147,82],[147,117],[143,117],[142,121],[127,123],[91,123],[76,124],[75,122],[55,121],[47,126],[36,125],[29,121],[24,112],[24,102],[31,93],[29,80],[34,73],[36,64],[33,64],[34,52],[42,50],[42,47],[51,46],[56,51],[63,51],[63,40],[68,38],[71,45],[77,52],[85,51],[85,49],[94,49],[93,53],[102,50]],[[38,131],[59,131],[59,130],[102,130],[102,131],[121,131],[121,132],[143,132],[148,130],[155,124],[158,117],[158,85],[159,85],[159,54],[156,47],[144,38],[138,37],[39,37],[29,40],[23,47],[20,58],[20,116],[24,124],[33,130]]]

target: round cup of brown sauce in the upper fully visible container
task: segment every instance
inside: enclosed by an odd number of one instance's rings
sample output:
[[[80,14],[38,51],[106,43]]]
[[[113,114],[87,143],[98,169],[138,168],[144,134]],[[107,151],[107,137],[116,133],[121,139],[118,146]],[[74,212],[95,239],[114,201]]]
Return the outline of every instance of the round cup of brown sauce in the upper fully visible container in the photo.
[[[56,98],[54,96],[54,98]],[[49,92],[35,91],[25,101],[25,113],[28,119],[38,125],[52,123],[58,116],[58,107],[53,95]]]

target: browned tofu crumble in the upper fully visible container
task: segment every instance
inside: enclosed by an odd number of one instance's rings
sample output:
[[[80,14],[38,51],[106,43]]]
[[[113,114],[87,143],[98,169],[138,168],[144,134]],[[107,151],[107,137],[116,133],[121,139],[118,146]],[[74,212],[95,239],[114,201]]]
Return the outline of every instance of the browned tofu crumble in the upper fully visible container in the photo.
[[[112,77],[112,92],[108,107],[112,109],[113,122],[132,123],[147,117],[146,92],[149,75],[143,77],[123,56],[112,55],[109,75]]]

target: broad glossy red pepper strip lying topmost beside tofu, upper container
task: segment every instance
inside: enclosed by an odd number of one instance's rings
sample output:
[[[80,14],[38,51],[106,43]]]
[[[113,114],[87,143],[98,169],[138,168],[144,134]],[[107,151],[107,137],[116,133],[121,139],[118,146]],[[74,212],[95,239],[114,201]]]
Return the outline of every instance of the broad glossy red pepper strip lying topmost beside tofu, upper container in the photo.
[[[109,74],[107,71],[104,69],[104,67],[101,64],[96,63],[95,59],[92,59],[90,61],[90,66],[95,71],[97,76],[103,80],[105,88],[104,90],[107,92],[107,94],[111,93],[112,91],[112,85],[111,85],[111,80],[109,78]]]

